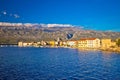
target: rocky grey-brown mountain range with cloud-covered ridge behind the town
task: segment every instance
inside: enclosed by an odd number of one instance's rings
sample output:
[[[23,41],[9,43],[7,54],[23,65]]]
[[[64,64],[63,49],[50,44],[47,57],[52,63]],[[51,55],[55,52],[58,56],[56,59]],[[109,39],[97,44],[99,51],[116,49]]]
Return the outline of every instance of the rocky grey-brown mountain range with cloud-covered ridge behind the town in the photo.
[[[0,44],[19,41],[79,40],[81,38],[120,38],[120,32],[86,30],[69,24],[31,24],[0,22]]]

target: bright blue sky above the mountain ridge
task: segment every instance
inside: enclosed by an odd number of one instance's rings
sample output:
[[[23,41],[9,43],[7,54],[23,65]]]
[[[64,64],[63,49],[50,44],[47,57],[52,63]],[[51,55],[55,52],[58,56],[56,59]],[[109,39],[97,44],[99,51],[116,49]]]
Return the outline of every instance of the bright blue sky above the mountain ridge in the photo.
[[[0,0],[0,22],[71,24],[120,32],[120,0]]]

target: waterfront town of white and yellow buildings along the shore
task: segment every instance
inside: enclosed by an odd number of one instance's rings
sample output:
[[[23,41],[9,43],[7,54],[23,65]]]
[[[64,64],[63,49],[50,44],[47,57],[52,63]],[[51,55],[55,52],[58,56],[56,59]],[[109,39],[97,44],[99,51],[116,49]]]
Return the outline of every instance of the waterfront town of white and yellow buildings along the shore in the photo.
[[[78,49],[100,49],[105,51],[120,52],[120,39],[83,38],[80,40],[61,41],[40,41],[40,42],[18,42],[19,47],[68,47]]]

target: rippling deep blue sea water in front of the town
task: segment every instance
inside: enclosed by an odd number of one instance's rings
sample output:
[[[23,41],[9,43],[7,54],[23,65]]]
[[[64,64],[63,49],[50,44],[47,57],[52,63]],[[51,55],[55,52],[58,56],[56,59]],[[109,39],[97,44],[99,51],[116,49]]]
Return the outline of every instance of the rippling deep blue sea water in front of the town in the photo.
[[[120,54],[70,48],[0,47],[0,80],[120,80]]]

